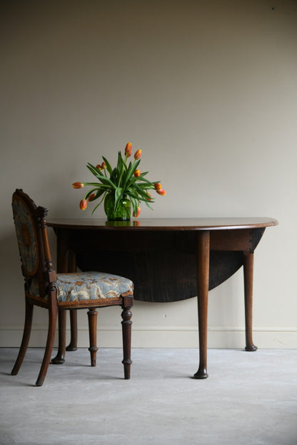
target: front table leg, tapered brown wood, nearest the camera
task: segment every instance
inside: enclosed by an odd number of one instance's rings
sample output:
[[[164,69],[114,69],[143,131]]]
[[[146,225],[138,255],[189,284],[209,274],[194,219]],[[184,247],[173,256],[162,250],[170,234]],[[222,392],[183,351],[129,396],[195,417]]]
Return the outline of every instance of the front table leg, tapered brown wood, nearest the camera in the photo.
[[[207,309],[209,282],[209,231],[198,232],[197,247],[197,290],[198,290],[198,329],[199,367],[194,379],[206,379],[207,374]]]

